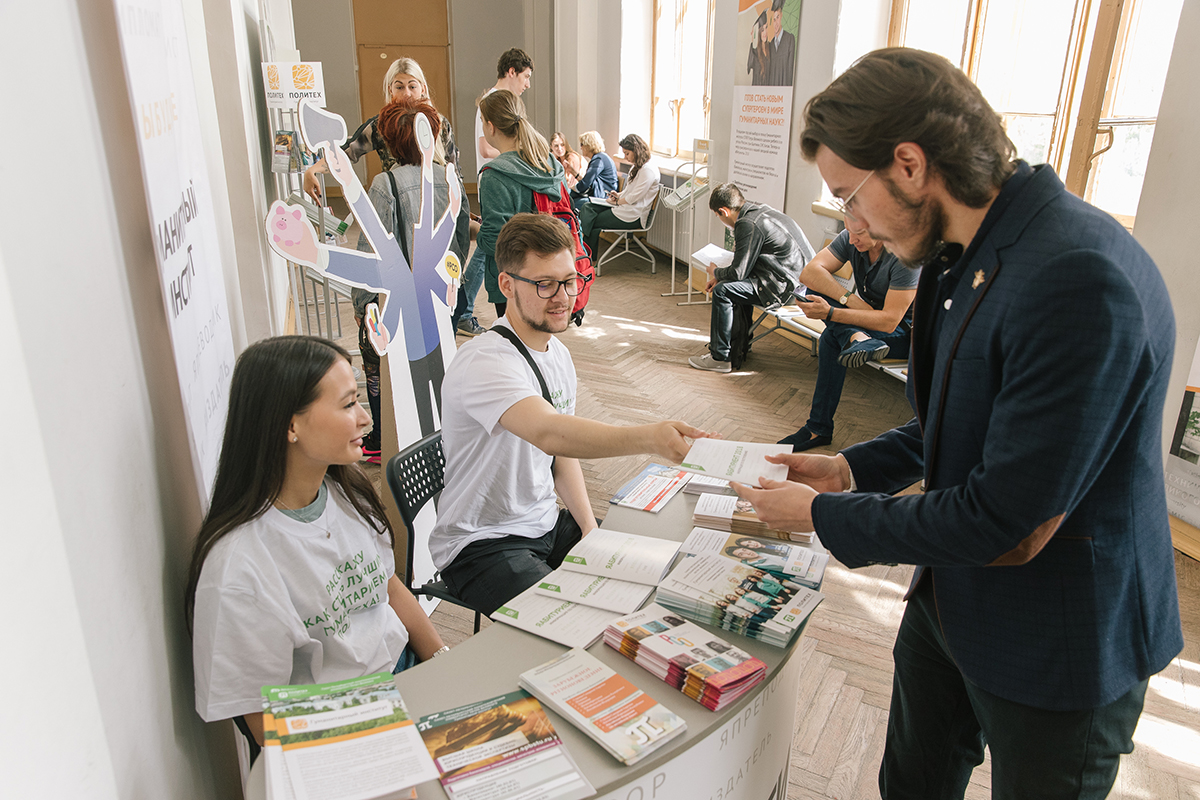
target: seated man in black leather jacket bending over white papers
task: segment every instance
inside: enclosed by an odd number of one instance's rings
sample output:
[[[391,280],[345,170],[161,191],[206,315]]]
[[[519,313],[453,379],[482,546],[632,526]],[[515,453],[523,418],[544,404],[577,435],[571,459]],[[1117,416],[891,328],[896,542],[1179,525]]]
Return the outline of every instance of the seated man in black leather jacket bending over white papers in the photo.
[[[708,207],[733,229],[733,263],[708,265],[706,291],[713,294],[708,353],[688,359],[696,369],[730,372],[733,306],[778,307],[800,285],[800,270],[812,246],[796,221],[766,204],[750,203],[734,184],[718,184]]]

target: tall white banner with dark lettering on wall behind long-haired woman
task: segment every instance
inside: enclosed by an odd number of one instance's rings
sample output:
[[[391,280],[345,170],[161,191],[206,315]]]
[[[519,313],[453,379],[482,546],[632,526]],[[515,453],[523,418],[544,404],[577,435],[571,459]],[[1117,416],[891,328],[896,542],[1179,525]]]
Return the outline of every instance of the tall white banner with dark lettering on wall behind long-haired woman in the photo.
[[[155,258],[208,507],[235,359],[182,8],[116,0]]]

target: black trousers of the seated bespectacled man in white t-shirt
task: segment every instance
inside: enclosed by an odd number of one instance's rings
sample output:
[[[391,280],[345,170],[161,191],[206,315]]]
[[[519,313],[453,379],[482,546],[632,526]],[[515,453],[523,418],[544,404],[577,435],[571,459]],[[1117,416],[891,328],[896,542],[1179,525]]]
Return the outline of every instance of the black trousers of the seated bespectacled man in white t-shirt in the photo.
[[[554,527],[536,539],[504,536],[472,542],[442,570],[442,579],[458,600],[491,615],[557,569],[580,539],[580,524],[570,511],[560,509]]]

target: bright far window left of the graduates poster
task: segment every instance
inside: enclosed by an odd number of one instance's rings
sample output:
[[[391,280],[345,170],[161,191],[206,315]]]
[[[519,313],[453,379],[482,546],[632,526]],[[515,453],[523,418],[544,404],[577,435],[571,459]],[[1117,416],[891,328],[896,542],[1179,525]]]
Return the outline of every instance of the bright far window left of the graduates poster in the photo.
[[[655,0],[650,150],[691,156],[708,138],[715,0]],[[703,46],[701,46],[703,42]]]

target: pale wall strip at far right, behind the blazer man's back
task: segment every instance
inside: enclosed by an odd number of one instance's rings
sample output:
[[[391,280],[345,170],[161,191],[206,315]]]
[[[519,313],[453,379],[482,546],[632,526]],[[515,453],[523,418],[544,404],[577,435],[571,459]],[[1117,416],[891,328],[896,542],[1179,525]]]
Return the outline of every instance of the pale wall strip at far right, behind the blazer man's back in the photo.
[[[1166,72],[1154,126],[1154,144],[1146,164],[1138,223],[1133,234],[1158,264],[1175,306],[1176,345],[1171,385],[1163,414],[1163,452],[1170,445],[1183,402],[1196,338],[1200,337],[1200,279],[1195,242],[1187,234],[1195,225],[1195,187],[1200,186],[1200,4],[1184,2],[1175,49]]]

